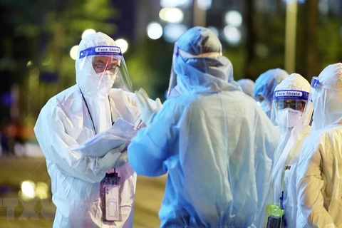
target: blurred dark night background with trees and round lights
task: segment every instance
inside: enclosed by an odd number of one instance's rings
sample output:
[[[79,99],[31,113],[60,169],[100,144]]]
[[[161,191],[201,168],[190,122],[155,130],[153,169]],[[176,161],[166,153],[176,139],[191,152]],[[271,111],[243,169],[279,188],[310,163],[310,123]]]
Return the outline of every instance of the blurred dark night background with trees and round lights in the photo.
[[[73,47],[85,31],[107,33],[126,47],[133,91],[145,88],[162,101],[174,43],[192,26],[217,33],[235,81],[284,68],[310,82],[342,59],[341,0],[0,0],[0,17],[0,199],[50,199],[51,180],[33,126],[46,101],[76,83]],[[138,179],[134,227],[148,221],[158,227],[164,185],[165,178]],[[22,197],[25,186],[36,192],[33,197]],[[0,227],[51,227],[41,201],[34,207],[39,219],[20,219],[24,207],[18,201],[9,219],[0,200]],[[53,205],[48,208],[53,218]]]

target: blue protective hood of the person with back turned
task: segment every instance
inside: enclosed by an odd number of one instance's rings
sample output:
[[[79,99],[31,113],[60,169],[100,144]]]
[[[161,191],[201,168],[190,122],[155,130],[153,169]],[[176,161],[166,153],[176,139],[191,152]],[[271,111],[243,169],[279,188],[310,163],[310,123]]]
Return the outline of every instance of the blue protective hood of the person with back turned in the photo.
[[[233,66],[222,56],[222,45],[207,28],[194,27],[175,43],[170,91],[179,85],[180,93],[215,93],[241,90],[233,78]]]

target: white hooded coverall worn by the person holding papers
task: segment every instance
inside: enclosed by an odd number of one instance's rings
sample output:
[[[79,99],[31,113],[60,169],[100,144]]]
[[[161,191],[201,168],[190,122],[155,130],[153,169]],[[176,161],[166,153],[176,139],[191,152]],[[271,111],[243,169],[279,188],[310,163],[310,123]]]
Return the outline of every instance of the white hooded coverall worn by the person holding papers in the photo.
[[[111,120],[123,118],[134,124],[140,116],[134,93],[111,88],[115,78],[99,77],[92,66],[93,56],[81,58],[81,51],[97,46],[115,46],[115,41],[104,33],[83,38],[76,59],[76,85],[48,100],[34,128],[57,207],[53,227],[132,227],[133,223],[136,173],[130,165],[116,169],[121,177],[122,220],[102,222],[99,191],[105,170],[98,167],[98,157],[68,149],[110,128]],[[124,68],[123,58],[120,61]],[[123,80],[121,73],[116,74],[119,76]]]

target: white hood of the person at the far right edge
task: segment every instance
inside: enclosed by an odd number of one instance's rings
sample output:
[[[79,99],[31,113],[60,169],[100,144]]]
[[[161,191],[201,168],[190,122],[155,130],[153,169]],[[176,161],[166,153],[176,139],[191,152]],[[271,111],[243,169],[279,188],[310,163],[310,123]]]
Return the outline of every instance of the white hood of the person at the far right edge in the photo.
[[[313,130],[342,121],[342,63],[327,66],[314,85]]]

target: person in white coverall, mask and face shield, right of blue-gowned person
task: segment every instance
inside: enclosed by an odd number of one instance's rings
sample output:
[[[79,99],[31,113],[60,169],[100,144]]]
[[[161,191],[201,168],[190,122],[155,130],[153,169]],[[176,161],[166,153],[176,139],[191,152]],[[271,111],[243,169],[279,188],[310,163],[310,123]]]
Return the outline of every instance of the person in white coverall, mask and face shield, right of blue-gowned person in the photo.
[[[292,73],[274,89],[273,105],[281,135],[272,169],[269,203],[279,205],[282,188],[287,227],[296,227],[296,163],[301,154],[304,138],[309,135],[311,128],[309,123],[313,108],[312,103],[308,103],[310,88],[310,83],[305,78]],[[283,221],[283,227],[284,224]]]

